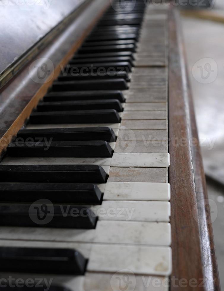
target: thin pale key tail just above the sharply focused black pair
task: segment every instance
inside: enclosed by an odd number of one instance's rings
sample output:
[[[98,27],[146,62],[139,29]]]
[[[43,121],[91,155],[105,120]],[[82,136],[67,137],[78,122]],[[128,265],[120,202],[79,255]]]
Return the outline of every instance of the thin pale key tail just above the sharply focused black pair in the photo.
[[[70,124],[28,124],[26,129],[44,129],[44,128],[77,128],[77,127],[110,127],[119,129],[120,123],[70,123]]]

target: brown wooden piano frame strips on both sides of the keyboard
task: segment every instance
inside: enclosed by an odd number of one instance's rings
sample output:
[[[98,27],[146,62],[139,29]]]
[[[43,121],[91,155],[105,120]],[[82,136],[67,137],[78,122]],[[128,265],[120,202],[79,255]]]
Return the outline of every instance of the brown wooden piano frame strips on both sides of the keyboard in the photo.
[[[51,45],[35,58],[50,58],[55,70],[45,84],[29,78],[29,65],[0,89],[0,155],[23,126],[38,101],[68,63],[109,5],[108,0],[89,1]],[[71,37],[72,36],[72,37]],[[77,41],[74,43],[72,39]],[[186,71],[180,21],[175,8],[169,19],[169,183],[171,184],[171,225],[173,272],[170,290],[220,290],[212,224],[207,205],[206,181],[202,165],[193,100]],[[184,140],[180,146],[175,141]],[[193,141],[193,144],[191,143]],[[182,280],[182,281],[181,281]],[[177,282],[179,282],[177,287]],[[191,282],[194,288],[184,287]],[[197,284],[196,284],[197,282]],[[180,283],[183,287],[180,286]]]

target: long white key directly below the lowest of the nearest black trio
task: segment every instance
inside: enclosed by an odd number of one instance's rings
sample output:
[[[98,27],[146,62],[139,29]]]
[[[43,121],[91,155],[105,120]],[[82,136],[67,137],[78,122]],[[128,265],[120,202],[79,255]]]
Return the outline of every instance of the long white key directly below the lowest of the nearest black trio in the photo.
[[[167,222],[98,221],[96,229],[0,227],[0,239],[169,246]]]

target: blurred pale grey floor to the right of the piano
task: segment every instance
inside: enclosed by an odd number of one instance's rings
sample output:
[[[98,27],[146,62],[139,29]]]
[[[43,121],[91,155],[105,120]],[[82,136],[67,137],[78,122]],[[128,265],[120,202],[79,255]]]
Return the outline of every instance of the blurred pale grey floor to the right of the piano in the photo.
[[[224,17],[223,1],[216,0],[213,10]],[[224,290],[224,20],[182,16],[182,28]]]

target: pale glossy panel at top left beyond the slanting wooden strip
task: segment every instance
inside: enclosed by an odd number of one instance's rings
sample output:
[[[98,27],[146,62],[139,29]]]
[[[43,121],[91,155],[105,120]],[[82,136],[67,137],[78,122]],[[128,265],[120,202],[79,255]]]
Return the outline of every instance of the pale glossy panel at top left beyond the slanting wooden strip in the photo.
[[[86,1],[0,1],[0,87],[3,76],[11,71],[12,77],[21,58]]]

